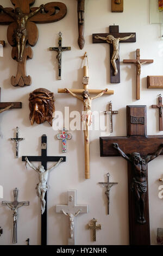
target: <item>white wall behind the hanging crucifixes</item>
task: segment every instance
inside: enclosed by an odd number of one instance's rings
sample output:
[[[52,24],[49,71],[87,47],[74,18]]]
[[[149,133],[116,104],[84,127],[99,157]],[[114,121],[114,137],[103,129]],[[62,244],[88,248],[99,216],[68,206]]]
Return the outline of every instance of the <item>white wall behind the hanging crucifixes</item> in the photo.
[[[37,0],[35,6],[45,4]],[[30,238],[30,245],[40,244],[40,202],[36,196],[37,174],[25,167],[21,155],[40,155],[41,136],[48,136],[48,155],[66,155],[66,163],[61,163],[49,176],[48,191],[48,245],[66,245],[68,237],[68,218],[55,214],[56,204],[67,204],[67,190],[77,190],[77,204],[88,204],[89,214],[77,217],[78,245],[128,245],[128,188],[127,163],[120,157],[100,157],[99,136],[106,136],[101,131],[90,132],[90,167],[91,179],[84,178],[83,132],[71,131],[73,138],[68,141],[67,154],[61,153],[61,142],[56,139],[54,131],[46,122],[30,125],[28,98],[29,93],[44,87],[55,94],[55,107],[64,111],[65,106],[82,111],[82,103],[68,95],[57,94],[58,88],[82,88],[83,70],[81,69],[84,52],[89,54],[90,88],[114,89],[115,94],[97,99],[92,104],[92,111],[104,111],[108,102],[113,102],[114,132],[111,136],[126,136],[126,105],[147,105],[148,135],[162,135],[159,132],[158,111],[151,108],[156,104],[161,90],[147,89],[147,75],[162,75],[163,42],[160,41],[160,26],[149,24],[149,1],[124,1],[123,13],[111,13],[111,1],[86,0],[85,6],[85,47],[79,50],[77,26],[77,1],[62,0],[67,5],[67,15],[56,23],[37,25],[39,40],[33,47],[34,57],[27,61],[27,74],[32,76],[29,87],[12,87],[10,77],[16,74],[17,63],[11,59],[11,47],[7,43],[4,57],[0,58],[1,101],[22,101],[22,109],[12,109],[1,114],[0,138],[0,185],[4,187],[4,199],[12,200],[12,191],[18,187],[18,200],[29,200],[30,206],[18,210],[18,245],[25,245]],[[4,7],[12,7],[10,1],[1,0]],[[109,26],[120,26],[120,32],[136,32],[136,42],[121,44],[121,83],[110,84],[109,45],[92,44],[92,33],[107,33]],[[7,42],[7,26],[0,26],[1,40]],[[62,54],[62,80],[57,80],[56,53],[49,52],[48,47],[57,46],[58,32],[62,32],[63,46],[72,50]],[[136,72],[134,65],[123,64],[123,59],[135,58],[136,48],[140,48],[141,58],[154,59],[153,64],[143,65],[141,75],[141,100],[136,101]],[[72,119],[71,119],[72,120]],[[20,143],[20,157],[15,159],[14,144],[9,140],[14,136],[14,129],[20,127],[20,135],[25,141]],[[158,198],[158,178],[162,175],[162,156],[149,164],[149,211],[151,225],[151,243],[156,244],[156,229],[162,227],[162,202]],[[38,164],[38,163],[35,163]],[[110,193],[110,215],[106,215],[104,188],[98,185],[110,173],[110,180],[118,182]],[[2,199],[1,199],[2,201]],[[1,202],[0,202],[1,203]],[[5,206],[0,207],[0,226],[4,234],[0,237],[1,245],[10,245],[12,238],[12,212]],[[97,231],[97,241],[92,242],[92,233],[87,230],[87,223],[97,218],[102,230]]]

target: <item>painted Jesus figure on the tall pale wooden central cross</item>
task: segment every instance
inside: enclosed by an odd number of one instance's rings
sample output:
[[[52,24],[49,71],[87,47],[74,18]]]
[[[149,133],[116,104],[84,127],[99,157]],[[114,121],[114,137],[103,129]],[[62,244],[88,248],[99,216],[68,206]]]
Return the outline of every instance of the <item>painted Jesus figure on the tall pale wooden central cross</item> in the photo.
[[[84,135],[86,137],[86,143],[89,143],[89,126],[92,123],[92,100],[97,99],[97,97],[101,97],[104,93],[108,92],[108,89],[105,89],[102,93],[99,93],[95,97],[90,97],[90,94],[87,90],[84,90],[84,92],[82,93],[82,97],[72,93],[71,90],[68,90],[67,88],[65,88],[65,90],[66,93],[70,93],[73,97],[76,97],[78,100],[83,101],[84,113],[82,114],[82,122],[84,128]]]

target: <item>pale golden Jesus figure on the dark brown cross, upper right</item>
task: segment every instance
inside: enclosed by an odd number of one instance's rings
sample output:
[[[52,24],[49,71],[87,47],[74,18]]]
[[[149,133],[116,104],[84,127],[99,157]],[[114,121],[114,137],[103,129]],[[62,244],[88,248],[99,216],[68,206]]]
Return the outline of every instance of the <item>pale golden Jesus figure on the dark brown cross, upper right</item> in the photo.
[[[113,46],[113,53],[111,57],[111,64],[115,70],[114,75],[116,76],[118,74],[116,60],[120,57],[120,51],[119,51],[119,42],[127,40],[129,38],[134,38],[135,35],[131,34],[129,36],[124,36],[124,38],[115,38],[113,35],[107,35],[106,37],[95,35],[96,39],[102,39],[108,42],[108,44],[112,44]]]

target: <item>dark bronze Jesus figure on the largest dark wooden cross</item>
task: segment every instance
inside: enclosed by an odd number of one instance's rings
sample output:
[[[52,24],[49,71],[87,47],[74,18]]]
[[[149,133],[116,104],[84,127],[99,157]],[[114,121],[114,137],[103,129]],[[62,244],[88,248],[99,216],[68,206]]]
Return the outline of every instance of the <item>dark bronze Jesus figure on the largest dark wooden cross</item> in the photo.
[[[113,147],[118,150],[120,155],[129,161],[133,166],[134,178],[132,184],[132,191],[135,193],[136,197],[136,206],[137,206],[137,222],[140,224],[145,224],[145,196],[147,192],[147,180],[146,180],[146,172],[148,163],[153,159],[158,157],[161,154],[163,149],[163,143],[160,144],[160,147],[156,152],[142,159],[139,153],[131,153],[127,156],[118,146],[117,143],[113,143]]]

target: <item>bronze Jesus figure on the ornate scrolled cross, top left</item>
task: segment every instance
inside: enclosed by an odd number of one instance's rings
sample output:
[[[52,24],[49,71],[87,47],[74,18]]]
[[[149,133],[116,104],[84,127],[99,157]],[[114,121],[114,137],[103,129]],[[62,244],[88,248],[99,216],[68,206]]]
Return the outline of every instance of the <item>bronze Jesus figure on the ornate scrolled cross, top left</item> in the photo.
[[[15,9],[15,12],[12,13],[12,11],[5,10],[2,5],[0,5],[0,12],[3,10],[4,13],[8,14],[12,17],[17,23],[17,28],[14,30],[13,39],[16,41],[16,47],[17,47],[17,62],[21,62],[23,58],[23,51],[26,44],[26,38],[27,38],[27,21],[30,17],[34,16],[36,13],[38,13],[40,10],[44,9],[44,5],[41,4],[39,8],[37,8],[35,11],[32,11],[29,14],[23,14],[22,10],[17,7]]]

